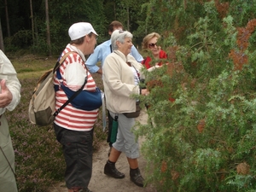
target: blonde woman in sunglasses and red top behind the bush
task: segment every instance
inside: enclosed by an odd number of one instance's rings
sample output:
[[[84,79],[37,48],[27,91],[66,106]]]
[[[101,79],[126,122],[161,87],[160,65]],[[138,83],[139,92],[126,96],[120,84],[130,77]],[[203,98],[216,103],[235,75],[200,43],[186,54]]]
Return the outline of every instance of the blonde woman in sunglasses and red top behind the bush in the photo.
[[[164,50],[158,46],[157,41],[160,39],[160,34],[157,32],[151,32],[145,38],[143,38],[143,49],[151,52],[151,55],[154,56],[154,59],[161,60],[167,59],[167,54]],[[151,62],[153,58],[149,55],[142,61],[142,64],[148,69],[148,71],[154,70],[154,68],[160,67],[162,62],[153,63]]]

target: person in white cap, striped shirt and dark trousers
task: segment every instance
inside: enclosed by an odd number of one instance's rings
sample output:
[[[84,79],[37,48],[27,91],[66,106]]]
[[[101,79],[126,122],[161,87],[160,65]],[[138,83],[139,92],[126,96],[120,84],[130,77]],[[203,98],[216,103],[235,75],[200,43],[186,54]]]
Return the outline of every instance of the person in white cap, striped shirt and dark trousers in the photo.
[[[97,33],[90,23],[79,22],[70,26],[68,34],[71,42],[67,44],[61,57],[67,52],[73,51],[73,53],[67,56],[59,67],[59,71],[55,73],[54,84],[59,87],[55,92],[56,109],[60,108],[68,99],[61,84],[70,90],[77,91],[87,77],[84,90],[96,90],[96,83],[85,66],[84,55],[93,53]],[[59,74],[61,74],[61,78]],[[83,96],[83,91],[79,93],[80,95]],[[97,108],[86,111],[68,103],[55,117],[55,136],[63,149],[68,192],[90,192],[88,184],[92,172],[93,126],[96,123],[98,110]]]

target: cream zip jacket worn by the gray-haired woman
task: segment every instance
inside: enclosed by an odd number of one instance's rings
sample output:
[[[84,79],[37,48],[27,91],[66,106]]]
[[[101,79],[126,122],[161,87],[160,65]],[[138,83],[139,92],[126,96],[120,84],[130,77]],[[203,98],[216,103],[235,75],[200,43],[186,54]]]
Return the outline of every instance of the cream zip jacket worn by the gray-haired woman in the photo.
[[[106,105],[113,113],[130,113],[136,111],[136,99],[132,95],[139,94],[139,86],[135,85],[131,67],[141,73],[143,65],[137,62],[132,55],[125,56],[119,50],[106,57],[103,63],[103,84],[106,96]]]

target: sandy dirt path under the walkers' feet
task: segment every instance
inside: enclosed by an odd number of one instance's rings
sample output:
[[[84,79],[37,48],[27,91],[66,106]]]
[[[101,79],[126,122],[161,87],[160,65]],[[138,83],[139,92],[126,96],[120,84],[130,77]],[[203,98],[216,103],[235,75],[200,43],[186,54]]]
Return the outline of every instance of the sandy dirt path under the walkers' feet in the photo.
[[[137,118],[140,122],[147,121],[147,114],[142,111],[141,115]],[[139,138],[139,143],[143,143],[143,138]],[[125,178],[115,179],[108,177],[103,173],[104,166],[108,160],[108,143],[102,143],[102,147],[93,154],[93,167],[92,177],[88,188],[93,192],[156,192],[152,186],[148,185],[145,188],[140,188],[130,180],[130,168],[125,157],[125,154],[121,154],[119,160],[116,162],[116,167],[119,172],[125,173]],[[142,175],[144,175],[144,169],[146,166],[146,160],[141,155],[138,159],[139,168]],[[51,192],[67,192],[65,183],[58,183],[49,189]]]

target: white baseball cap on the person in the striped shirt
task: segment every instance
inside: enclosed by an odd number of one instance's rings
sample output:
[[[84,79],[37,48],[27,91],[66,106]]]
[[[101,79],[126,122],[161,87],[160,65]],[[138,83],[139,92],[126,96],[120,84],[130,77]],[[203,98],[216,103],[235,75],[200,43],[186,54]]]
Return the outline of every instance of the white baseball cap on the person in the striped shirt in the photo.
[[[93,32],[94,34],[98,35],[94,28],[90,25],[90,23],[87,22],[74,23],[68,29],[68,35],[71,38],[71,40],[82,38],[85,35],[88,35],[90,32]]]

